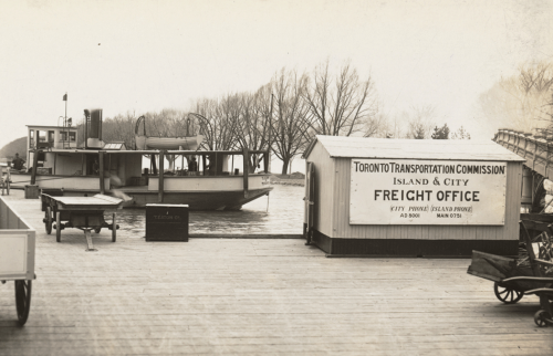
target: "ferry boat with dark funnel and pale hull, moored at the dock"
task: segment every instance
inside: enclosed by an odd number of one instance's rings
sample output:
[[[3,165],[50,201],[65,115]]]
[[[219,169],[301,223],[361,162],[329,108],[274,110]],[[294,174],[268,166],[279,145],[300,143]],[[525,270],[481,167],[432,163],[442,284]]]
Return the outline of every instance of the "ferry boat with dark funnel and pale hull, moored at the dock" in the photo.
[[[272,190],[267,185],[269,151],[198,150],[201,136],[157,140],[163,143],[158,146],[152,140],[143,146],[148,149],[106,144],[102,140],[102,109],[85,111],[83,144],[77,142],[76,127],[27,127],[28,168],[12,171],[12,188],[36,186],[43,191],[63,191],[64,196],[100,192],[128,197],[126,207],[182,203],[190,210],[239,210]],[[178,149],[167,149],[175,145]],[[252,155],[261,157],[262,171],[250,171]],[[192,157],[198,163],[197,171],[184,169]],[[148,160],[149,167],[143,167]],[[234,161],[240,167],[234,167]]]

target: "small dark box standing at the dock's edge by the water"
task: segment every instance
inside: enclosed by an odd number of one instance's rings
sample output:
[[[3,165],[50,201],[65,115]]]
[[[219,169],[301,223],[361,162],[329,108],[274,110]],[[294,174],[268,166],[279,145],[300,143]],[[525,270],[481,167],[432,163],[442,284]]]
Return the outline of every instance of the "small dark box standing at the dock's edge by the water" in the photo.
[[[146,241],[188,242],[188,206],[146,205]]]

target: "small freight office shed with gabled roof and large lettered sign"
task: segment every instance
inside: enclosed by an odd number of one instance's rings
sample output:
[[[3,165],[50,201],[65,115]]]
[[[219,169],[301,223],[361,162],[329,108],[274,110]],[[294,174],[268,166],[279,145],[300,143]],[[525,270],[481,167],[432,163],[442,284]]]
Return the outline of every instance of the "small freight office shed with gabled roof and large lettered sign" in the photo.
[[[522,163],[490,142],[316,136],[304,230],[328,255],[518,253]]]

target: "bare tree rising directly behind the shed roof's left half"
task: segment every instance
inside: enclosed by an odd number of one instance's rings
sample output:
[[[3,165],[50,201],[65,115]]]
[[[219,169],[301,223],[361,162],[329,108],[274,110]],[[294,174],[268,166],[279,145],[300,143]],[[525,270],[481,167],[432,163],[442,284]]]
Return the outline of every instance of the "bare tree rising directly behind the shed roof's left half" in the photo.
[[[377,101],[371,76],[361,81],[349,63],[333,80],[328,61],[317,66],[302,91],[309,106],[309,124],[317,135],[349,136],[362,132],[376,114]]]

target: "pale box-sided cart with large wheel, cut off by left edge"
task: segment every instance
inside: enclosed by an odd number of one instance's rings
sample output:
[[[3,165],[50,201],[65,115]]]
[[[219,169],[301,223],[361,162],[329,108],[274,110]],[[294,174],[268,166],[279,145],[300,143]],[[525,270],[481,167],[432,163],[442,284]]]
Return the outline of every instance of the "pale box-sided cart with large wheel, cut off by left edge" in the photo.
[[[31,308],[35,231],[0,197],[0,281],[14,281],[15,310],[23,326]]]

